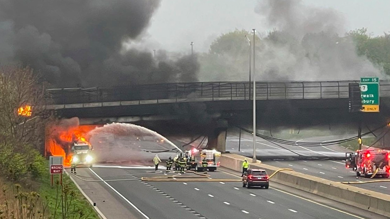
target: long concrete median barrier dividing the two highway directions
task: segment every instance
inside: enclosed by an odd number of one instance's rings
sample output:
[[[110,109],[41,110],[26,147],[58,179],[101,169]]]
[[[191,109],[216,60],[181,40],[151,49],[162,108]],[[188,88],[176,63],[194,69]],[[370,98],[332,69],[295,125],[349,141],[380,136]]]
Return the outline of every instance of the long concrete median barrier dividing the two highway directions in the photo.
[[[223,154],[221,166],[241,172],[244,158],[246,157],[236,154]],[[265,169],[269,175],[279,169],[260,162],[252,163],[250,158],[246,159],[250,162],[250,168],[256,166]],[[291,171],[279,172],[270,181],[390,217],[390,195],[387,194]]]

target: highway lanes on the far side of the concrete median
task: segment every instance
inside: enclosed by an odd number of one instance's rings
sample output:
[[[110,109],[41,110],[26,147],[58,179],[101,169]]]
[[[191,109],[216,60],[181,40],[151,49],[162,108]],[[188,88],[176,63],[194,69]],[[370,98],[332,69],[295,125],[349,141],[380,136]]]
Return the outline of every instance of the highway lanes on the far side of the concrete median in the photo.
[[[342,139],[346,136],[323,136],[323,137],[311,137],[301,140],[296,140],[296,146],[283,145],[283,147],[293,150],[298,154],[310,156],[316,158],[315,160],[280,160],[283,158],[298,158],[298,155],[292,152],[273,145],[268,141],[261,138],[257,138],[256,154],[260,159],[265,158],[264,164],[271,166],[277,166],[280,168],[292,168],[294,171],[305,173],[308,175],[321,177],[324,179],[336,181],[336,182],[365,182],[372,180],[381,180],[382,178],[368,179],[364,177],[356,177],[356,172],[352,169],[345,167],[343,160],[321,160],[331,156],[345,157],[345,152],[351,152],[338,145],[323,146],[323,147],[303,147],[299,145],[300,141],[305,142],[325,142],[329,140]],[[350,137],[350,135],[349,135]],[[236,133],[230,133],[226,140],[226,150],[235,154],[246,155],[252,157],[253,154],[253,136],[241,133],[241,150],[238,152],[238,135]],[[277,154],[277,156],[275,156]],[[280,156],[280,157],[278,157]],[[275,160],[272,160],[275,159]],[[363,189],[369,189],[384,194],[390,194],[390,182],[376,182],[367,184],[350,184]]]

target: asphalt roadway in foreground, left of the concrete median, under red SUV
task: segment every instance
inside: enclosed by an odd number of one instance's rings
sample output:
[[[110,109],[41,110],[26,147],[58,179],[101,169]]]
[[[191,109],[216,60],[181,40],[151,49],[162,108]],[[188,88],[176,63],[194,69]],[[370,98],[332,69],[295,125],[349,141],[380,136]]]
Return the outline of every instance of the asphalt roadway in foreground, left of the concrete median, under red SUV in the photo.
[[[385,218],[272,182],[269,189],[243,188],[241,182],[142,182],[141,177],[164,176],[164,173],[153,173],[153,169],[141,166],[77,171],[84,180],[73,178],[108,219]],[[240,179],[239,173],[225,171],[229,170],[220,168],[209,174],[214,179]]]

